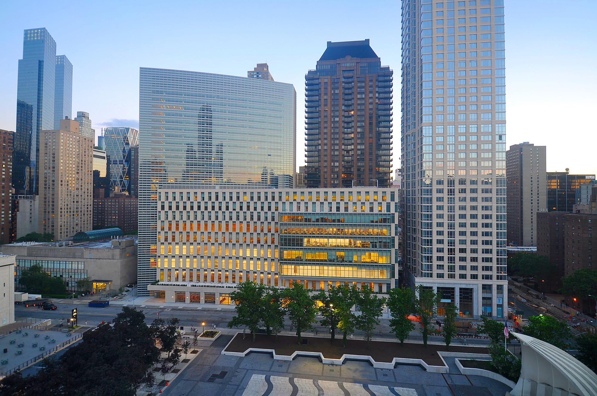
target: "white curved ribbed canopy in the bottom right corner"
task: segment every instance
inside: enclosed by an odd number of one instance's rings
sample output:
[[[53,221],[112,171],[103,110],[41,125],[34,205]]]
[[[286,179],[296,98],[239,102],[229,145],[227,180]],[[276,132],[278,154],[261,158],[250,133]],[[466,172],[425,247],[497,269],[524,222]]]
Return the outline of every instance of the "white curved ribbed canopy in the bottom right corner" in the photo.
[[[552,344],[519,333],[522,370],[510,394],[522,395],[597,395],[597,375],[572,355]]]

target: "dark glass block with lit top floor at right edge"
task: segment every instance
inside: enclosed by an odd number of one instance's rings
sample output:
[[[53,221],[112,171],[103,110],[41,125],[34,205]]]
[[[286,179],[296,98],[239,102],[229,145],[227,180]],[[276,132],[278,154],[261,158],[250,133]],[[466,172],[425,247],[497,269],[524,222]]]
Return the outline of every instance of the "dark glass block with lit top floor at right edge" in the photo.
[[[571,175],[565,172],[547,172],[547,211],[572,212],[580,203],[580,186],[595,181],[595,175]]]

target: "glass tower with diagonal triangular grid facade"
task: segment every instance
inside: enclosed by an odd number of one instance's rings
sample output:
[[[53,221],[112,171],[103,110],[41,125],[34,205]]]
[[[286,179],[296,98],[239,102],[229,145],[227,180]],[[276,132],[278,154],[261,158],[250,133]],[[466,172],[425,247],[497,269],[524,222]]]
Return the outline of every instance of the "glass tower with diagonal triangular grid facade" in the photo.
[[[110,161],[110,189],[130,193],[131,146],[139,146],[139,131],[128,127],[105,128],[104,144]]]

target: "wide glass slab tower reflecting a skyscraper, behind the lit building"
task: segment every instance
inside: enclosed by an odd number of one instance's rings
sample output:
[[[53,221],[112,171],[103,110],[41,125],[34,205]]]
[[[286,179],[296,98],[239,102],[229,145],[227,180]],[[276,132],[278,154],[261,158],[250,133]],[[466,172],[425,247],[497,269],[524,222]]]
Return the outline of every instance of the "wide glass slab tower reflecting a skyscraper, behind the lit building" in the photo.
[[[156,280],[158,188],[292,187],[296,92],[288,83],[141,67],[140,295]]]

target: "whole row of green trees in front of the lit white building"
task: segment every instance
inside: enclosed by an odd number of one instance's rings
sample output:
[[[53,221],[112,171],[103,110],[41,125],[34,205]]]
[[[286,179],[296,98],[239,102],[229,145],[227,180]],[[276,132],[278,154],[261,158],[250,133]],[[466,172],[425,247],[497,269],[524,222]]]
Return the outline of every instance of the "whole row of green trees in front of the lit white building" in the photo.
[[[239,283],[238,289],[230,293],[235,302],[236,315],[228,327],[247,327],[253,333],[263,327],[267,336],[274,335],[278,342],[278,333],[284,329],[286,315],[291,328],[296,330],[298,344],[301,334],[313,330],[316,314],[321,315],[319,323],[330,329],[331,342],[336,338],[336,331],[342,334],[344,348],[347,335],[354,330],[364,332],[367,347],[380,324],[384,305],[392,315],[390,327],[401,344],[408,338],[415,325],[410,314],[420,318],[423,344],[427,346],[427,336],[432,331],[433,318],[437,313],[438,296],[432,289],[419,286],[416,293],[412,289],[391,289],[387,298],[378,297],[370,287],[357,289],[355,286],[330,286],[330,289],[311,295],[308,289],[296,284],[288,289],[264,286],[251,281]],[[353,311],[356,307],[356,311]],[[445,309],[445,324],[442,331],[446,345],[456,335],[455,320],[458,308],[450,304]]]

